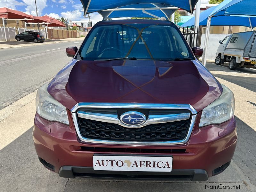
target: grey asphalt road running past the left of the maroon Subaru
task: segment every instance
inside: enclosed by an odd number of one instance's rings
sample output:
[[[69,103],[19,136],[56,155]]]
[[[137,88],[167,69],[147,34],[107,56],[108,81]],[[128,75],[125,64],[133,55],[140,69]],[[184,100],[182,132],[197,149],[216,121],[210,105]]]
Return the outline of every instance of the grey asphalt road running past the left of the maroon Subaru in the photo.
[[[0,109],[51,80],[71,59],[65,48],[80,44],[81,40],[0,49]]]

